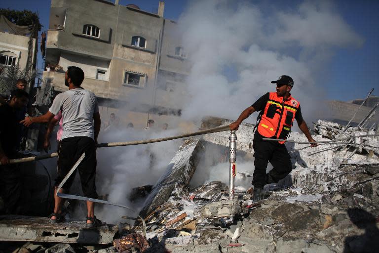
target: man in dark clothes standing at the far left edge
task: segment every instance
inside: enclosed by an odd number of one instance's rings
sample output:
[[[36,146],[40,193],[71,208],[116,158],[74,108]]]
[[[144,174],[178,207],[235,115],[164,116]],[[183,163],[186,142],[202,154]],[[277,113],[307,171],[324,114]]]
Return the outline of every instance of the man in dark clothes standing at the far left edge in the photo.
[[[17,158],[20,146],[18,110],[24,108],[29,94],[24,90],[15,90],[7,104],[0,106],[0,194],[5,204],[6,213],[19,212],[21,183],[19,169],[9,164],[9,159]]]

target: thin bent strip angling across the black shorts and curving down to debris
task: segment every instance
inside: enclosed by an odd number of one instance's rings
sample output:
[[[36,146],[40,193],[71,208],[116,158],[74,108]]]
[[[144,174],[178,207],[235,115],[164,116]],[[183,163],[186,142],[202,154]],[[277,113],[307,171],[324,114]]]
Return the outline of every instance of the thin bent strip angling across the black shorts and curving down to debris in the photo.
[[[66,183],[67,179],[69,179],[69,177],[74,173],[75,169],[79,166],[79,164],[84,159],[84,157],[85,157],[85,153],[83,153],[79,157],[79,159],[76,161],[76,163],[73,166],[73,168],[70,169],[70,171],[67,173],[67,175],[65,176],[65,178],[63,178],[62,182],[58,185],[58,187],[57,187],[57,196],[60,197],[60,198],[64,198],[64,199],[92,201],[92,202],[95,202],[95,203],[101,203],[101,204],[107,204],[107,205],[112,205],[112,206],[116,206],[116,207],[126,208],[126,209],[128,209],[130,211],[133,211],[142,220],[142,225],[143,225],[143,228],[144,228],[144,236],[146,237],[146,224],[145,224],[145,220],[140,215],[138,215],[138,212],[134,211],[133,209],[131,209],[131,208],[127,207],[127,206],[121,205],[121,204],[117,204],[117,203],[113,203],[113,202],[109,202],[109,201],[105,201],[105,200],[98,200],[98,199],[87,198],[87,197],[76,196],[76,195],[70,195],[70,194],[65,194],[65,193],[60,193],[59,192],[59,190],[62,188],[62,186]]]

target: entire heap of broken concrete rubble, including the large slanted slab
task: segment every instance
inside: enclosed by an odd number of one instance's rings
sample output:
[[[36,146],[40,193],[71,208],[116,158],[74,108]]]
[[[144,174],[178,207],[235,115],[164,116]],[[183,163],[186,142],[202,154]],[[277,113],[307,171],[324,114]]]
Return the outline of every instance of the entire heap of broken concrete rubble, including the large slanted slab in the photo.
[[[229,121],[219,121],[220,124],[227,125]],[[237,132],[237,149],[242,152],[240,157],[237,155],[237,169],[238,161],[244,159],[251,162],[253,169],[252,128],[242,124]],[[375,133],[363,127],[344,130],[341,125],[325,121],[318,121],[315,131],[318,134],[313,135],[316,141]],[[202,169],[199,160],[201,154],[209,154],[207,148],[220,147],[211,152],[214,155],[211,164],[215,161],[225,163],[226,140],[225,132],[186,140],[153,187],[136,188],[138,197],[151,191],[140,212],[146,223],[145,231],[141,220],[136,219],[134,224],[120,224],[114,246],[90,248],[59,244],[66,247],[61,252],[71,252],[72,248],[73,252],[98,253],[377,251],[377,137],[357,137],[351,142],[328,143],[315,148],[287,142],[293,170],[278,183],[265,185],[265,197],[258,203],[250,200],[252,189],[244,189],[238,184],[235,185],[235,198],[229,200],[226,182],[204,179],[205,183],[200,185],[189,183],[196,168]],[[307,141],[297,132],[292,132],[289,140]],[[225,172],[228,173],[227,166]],[[249,177],[252,172],[238,171],[237,174]],[[132,220],[132,217],[125,217]],[[25,252],[60,252],[49,251],[46,247],[42,247],[42,251],[41,247]]]

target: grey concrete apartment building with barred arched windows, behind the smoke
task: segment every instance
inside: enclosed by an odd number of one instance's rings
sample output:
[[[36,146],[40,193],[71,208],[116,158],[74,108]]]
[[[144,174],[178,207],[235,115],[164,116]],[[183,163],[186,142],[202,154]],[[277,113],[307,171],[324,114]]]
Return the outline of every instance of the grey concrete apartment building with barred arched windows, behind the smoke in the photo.
[[[45,65],[62,69],[43,72],[43,80],[66,91],[64,72],[75,65],[85,73],[82,86],[98,96],[103,119],[121,108],[135,126],[146,125],[148,113],[162,123],[175,118],[181,108],[172,101],[183,95],[190,62],[174,36],[176,23],[163,18],[164,2],[157,5],[155,14],[118,0],[51,0]]]

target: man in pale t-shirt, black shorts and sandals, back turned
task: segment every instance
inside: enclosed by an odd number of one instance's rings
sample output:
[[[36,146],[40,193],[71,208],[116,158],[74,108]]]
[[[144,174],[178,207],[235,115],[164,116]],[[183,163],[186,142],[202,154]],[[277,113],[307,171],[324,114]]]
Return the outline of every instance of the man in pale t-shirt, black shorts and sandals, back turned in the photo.
[[[58,177],[55,180],[54,212],[50,214],[50,222],[57,223],[64,220],[61,207],[62,198],[57,196],[57,186],[62,182],[70,169],[74,166],[83,152],[85,157],[77,167],[79,170],[83,194],[87,198],[97,198],[96,177],[96,144],[100,131],[100,114],[97,98],[94,93],[83,89],[80,84],[84,80],[84,72],[75,66],[68,67],[65,84],[69,90],[58,94],[49,111],[39,117],[26,117],[20,123],[30,126],[33,123],[48,123],[55,115],[62,111],[63,134],[58,155]],[[75,173],[63,185],[61,193],[70,189]],[[94,203],[87,201],[87,226],[101,225],[94,214]]]

